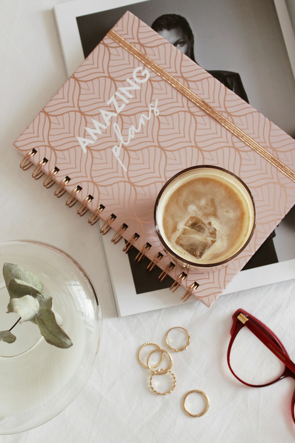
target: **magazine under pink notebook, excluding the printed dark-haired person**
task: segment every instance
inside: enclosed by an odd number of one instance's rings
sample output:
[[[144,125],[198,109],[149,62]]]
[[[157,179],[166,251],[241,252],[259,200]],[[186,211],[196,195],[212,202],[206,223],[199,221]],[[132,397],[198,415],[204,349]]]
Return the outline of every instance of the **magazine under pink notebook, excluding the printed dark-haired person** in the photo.
[[[126,6],[123,0],[111,0],[108,10],[102,10],[96,1],[59,4],[54,12],[67,74],[76,70],[127,10],[149,26],[163,14],[189,17],[197,62],[208,70],[238,72],[250,104],[295,136],[295,81],[288,58],[293,41],[288,26],[284,28],[288,22],[281,2],[276,2],[279,9],[263,0],[235,1],[234,6],[232,0],[213,2],[213,9],[205,0],[181,4],[176,0],[129,1]],[[223,294],[295,278],[294,234],[295,207]],[[121,253],[122,248],[113,245],[108,236],[102,237],[102,244],[119,316],[182,303],[183,288],[169,291],[169,278],[160,284],[157,270],[149,274],[145,261],[134,264],[132,254]],[[190,297],[188,301],[194,300]]]

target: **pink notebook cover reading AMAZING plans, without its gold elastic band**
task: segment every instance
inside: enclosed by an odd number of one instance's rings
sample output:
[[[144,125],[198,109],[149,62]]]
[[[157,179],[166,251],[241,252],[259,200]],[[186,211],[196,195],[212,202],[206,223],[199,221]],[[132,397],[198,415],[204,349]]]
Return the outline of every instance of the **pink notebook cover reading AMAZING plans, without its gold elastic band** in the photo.
[[[207,71],[130,12],[113,30],[295,171],[295,140]],[[67,191],[82,187],[78,200],[93,196],[88,208],[105,206],[103,220],[115,214],[113,229],[126,223],[126,240],[138,233],[138,250],[149,242],[149,259],[164,253],[153,225],[153,206],[169,178],[200,164],[221,166],[241,177],[257,206],[249,245],[226,267],[191,269],[182,282],[190,288],[196,281],[199,287],[193,294],[207,306],[295,203],[291,179],[109,36],[35,117],[15,147],[23,155],[36,149],[31,160],[38,164],[45,157],[46,173],[58,167],[57,183],[69,176]],[[170,261],[164,254],[158,266],[164,269]],[[170,276],[176,279],[181,272],[176,265]]]

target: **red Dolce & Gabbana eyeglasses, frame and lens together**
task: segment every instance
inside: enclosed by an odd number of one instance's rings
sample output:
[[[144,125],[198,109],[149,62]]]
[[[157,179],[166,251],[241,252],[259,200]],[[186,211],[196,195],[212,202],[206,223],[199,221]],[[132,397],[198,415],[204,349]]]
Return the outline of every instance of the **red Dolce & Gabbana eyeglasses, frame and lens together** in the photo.
[[[244,385],[260,388],[285,377],[295,380],[295,363],[290,360],[283,344],[253,315],[238,309],[233,315],[230,335],[227,363],[234,376]],[[291,401],[291,414],[295,423],[294,406],[295,391]]]

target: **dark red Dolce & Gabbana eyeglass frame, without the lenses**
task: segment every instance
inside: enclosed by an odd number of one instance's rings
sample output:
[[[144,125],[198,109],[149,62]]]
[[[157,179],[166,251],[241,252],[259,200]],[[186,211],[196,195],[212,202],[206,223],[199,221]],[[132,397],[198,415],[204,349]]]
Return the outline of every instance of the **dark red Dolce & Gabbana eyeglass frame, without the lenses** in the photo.
[[[249,314],[249,312],[244,311],[243,309],[238,309],[233,315],[233,326],[230,330],[230,342],[227,349],[227,364],[229,365],[231,373],[236,377],[241,383],[244,385],[250,386],[252,388],[263,388],[264,386],[273,385],[277,381],[282,380],[285,377],[292,377],[295,380],[295,363],[290,359],[283,343],[280,339],[270,330],[264,323],[258,320],[253,315]],[[230,365],[230,350],[234,343],[234,339],[237,337],[238,332],[246,326],[248,330],[250,330],[273,354],[276,355],[277,358],[285,365],[285,369],[280,377],[277,377],[275,380],[265,383],[264,385],[251,385],[247,383],[241,378],[239,378],[232,369]],[[277,349],[279,348],[279,350]],[[295,424],[295,416],[294,416],[294,407],[295,407],[295,390],[291,400],[291,415],[293,422]]]

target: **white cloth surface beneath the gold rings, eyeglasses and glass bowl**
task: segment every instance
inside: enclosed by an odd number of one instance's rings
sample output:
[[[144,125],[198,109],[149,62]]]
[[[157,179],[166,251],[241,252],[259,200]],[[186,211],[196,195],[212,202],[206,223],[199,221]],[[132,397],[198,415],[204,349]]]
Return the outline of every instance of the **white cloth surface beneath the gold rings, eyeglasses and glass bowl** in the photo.
[[[58,1],[58,0],[57,0]],[[99,1],[99,0],[98,0]],[[44,241],[73,256],[100,298],[103,337],[92,377],[53,420],[0,442],[291,442],[295,383],[262,389],[241,385],[226,363],[231,316],[242,307],[266,323],[295,359],[295,281],[224,295],[207,308],[196,301],[118,319],[97,229],[57,199],[42,180],[19,168],[13,141],[66,80],[52,8],[54,0],[2,0],[0,14],[0,241]],[[165,332],[183,326],[188,350],[174,354],[174,392],[157,396],[137,361],[144,342],[165,345]],[[2,382],[2,381],[1,381]],[[201,418],[182,410],[188,390],[201,389],[210,408]],[[1,392],[0,392],[1,395]]]

